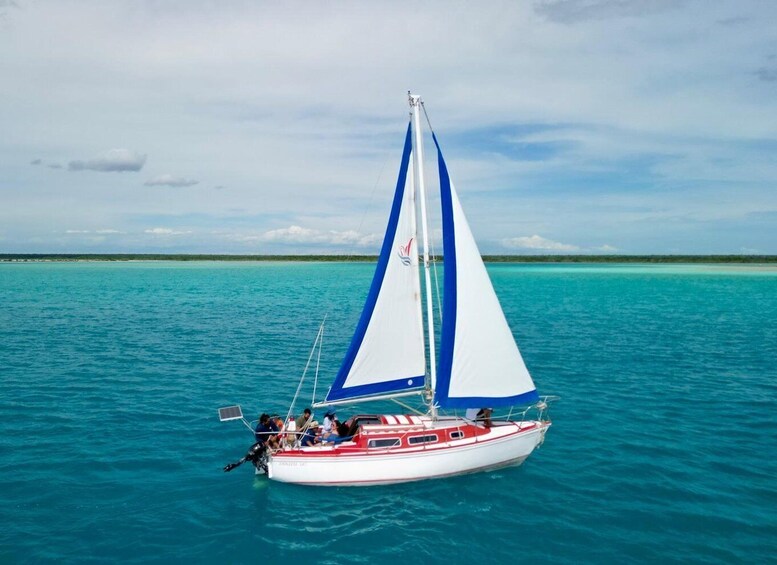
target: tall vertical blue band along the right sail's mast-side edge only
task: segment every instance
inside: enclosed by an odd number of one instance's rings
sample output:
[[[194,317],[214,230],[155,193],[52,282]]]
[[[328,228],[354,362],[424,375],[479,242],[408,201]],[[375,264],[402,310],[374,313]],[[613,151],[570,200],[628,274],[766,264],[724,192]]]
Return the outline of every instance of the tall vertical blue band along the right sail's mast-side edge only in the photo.
[[[442,207],[443,297],[442,328],[440,329],[440,356],[437,364],[437,386],[434,398],[447,408],[448,391],[453,369],[453,343],[456,337],[456,235],[453,229],[453,196],[448,167],[442,157],[437,136],[432,134],[437,147],[437,166],[440,172],[440,205]]]

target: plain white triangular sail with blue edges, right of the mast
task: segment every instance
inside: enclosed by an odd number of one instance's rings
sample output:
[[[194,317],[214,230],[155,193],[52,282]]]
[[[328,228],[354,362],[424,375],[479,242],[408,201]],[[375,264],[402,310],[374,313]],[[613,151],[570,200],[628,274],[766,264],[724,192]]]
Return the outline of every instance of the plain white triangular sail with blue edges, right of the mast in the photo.
[[[437,146],[444,286],[435,401],[441,408],[529,404],[526,369]]]

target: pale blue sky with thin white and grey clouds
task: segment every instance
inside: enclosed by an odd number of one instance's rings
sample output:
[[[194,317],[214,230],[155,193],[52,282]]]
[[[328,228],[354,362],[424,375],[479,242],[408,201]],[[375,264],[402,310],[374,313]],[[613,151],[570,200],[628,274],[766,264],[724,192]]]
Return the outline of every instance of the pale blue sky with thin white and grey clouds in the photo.
[[[409,90],[483,253],[777,254],[769,0],[0,0],[0,253],[376,254]]]

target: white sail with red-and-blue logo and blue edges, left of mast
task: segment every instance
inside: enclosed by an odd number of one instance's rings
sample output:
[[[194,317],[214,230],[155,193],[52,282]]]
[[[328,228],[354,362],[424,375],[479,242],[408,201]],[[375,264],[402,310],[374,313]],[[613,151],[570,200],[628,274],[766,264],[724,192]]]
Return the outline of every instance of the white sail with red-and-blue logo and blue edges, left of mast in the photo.
[[[399,179],[378,266],[351,345],[325,402],[401,394],[424,387],[415,190],[407,170],[407,128]]]

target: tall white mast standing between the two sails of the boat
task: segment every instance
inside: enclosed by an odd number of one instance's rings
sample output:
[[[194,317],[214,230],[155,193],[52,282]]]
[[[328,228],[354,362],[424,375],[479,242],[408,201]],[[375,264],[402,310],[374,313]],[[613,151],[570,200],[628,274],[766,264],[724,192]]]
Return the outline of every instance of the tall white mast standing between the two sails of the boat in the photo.
[[[418,195],[421,200],[421,235],[424,242],[424,286],[426,294],[426,321],[429,339],[429,389],[431,404],[429,407],[433,418],[437,418],[437,409],[434,406],[434,390],[437,386],[437,359],[434,347],[434,314],[432,308],[432,280],[429,272],[429,230],[426,222],[426,188],[424,185],[424,149],[421,133],[421,97],[407,93],[410,108],[413,113],[413,179],[418,187]]]

